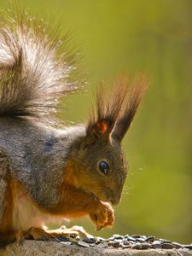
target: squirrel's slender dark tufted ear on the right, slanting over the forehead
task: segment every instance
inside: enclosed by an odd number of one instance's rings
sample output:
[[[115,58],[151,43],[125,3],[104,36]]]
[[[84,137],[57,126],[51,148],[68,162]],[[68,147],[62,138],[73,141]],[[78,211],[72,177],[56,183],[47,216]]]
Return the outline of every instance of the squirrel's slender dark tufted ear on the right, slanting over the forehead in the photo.
[[[147,87],[148,79],[143,73],[137,74],[132,80],[130,90],[127,91],[124,104],[113,129],[113,137],[116,137],[119,142],[122,141],[126,131],[130,128]]]

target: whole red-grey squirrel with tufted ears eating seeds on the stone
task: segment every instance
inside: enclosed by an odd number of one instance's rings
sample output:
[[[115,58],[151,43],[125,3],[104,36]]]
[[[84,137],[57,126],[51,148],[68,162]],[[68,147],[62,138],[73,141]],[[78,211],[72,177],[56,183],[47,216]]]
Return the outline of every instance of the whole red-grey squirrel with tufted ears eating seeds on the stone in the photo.
[[[68,234],[46,230],[50,219],[113,226],[127,174],[121,142],[148,81],[137,73],[131,86],[102,85],[84,124],[55,125],[61,96],[81,87],[66,44],[42,19],[0,21],[0,242]]]

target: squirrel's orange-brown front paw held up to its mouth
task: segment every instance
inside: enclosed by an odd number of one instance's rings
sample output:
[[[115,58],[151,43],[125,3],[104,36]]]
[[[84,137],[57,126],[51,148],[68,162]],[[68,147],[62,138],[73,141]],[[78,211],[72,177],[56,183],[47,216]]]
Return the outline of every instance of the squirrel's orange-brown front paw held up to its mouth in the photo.
[[[90,219],[96,224],[96,230],[112,227],[114,223],[113,208],[107,202],[100,201],[96,212],[90,213]]]

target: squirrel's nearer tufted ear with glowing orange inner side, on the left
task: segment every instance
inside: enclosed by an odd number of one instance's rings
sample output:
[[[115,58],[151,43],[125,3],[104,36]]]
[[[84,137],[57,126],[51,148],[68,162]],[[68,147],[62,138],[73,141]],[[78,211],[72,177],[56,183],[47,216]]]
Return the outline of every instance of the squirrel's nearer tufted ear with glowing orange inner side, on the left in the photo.
[[[120,109],[125,99],[125,79],[119,79],[118,84],[107,93],[102,84],[96,93],[96,110],[90,115],[87,125],[87,135],[108,137],[118,119]]]

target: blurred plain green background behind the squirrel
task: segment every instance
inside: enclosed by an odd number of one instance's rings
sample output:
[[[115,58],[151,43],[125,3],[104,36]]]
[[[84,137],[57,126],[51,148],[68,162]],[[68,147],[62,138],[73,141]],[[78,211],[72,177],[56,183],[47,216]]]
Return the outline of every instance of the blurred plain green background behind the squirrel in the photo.
[[[88,91],[65,99],[63,118],[83,122],[102,80],[147,70],[152,83],[124,148],[129,175],[112,230],[96,236],[143,234],[192,241],[192,1],[28,0],[35,13],[53,15],[73,31],[84,54]],[[8,1],[1,0],[1,8]],[[113,83],[112,83],[113,84]]]

